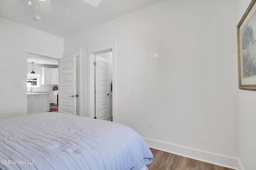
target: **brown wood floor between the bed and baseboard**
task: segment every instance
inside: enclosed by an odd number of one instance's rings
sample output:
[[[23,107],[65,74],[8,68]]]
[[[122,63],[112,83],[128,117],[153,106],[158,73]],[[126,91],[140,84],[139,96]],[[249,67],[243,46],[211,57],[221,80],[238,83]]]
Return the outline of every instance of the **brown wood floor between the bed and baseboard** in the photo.
[[[148,170],[233,170],[162,150],[152,148],[150,150],[153,153],[154,160],[148,165]]]

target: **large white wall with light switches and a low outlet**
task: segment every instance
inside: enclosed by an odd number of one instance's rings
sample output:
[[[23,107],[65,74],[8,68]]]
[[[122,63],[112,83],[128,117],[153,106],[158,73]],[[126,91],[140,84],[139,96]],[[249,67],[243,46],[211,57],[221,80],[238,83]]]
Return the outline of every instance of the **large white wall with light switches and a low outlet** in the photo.
[[[151,147],[236,167],[236,12],[236,1],[161,1],[64,38],[64,53],[116,40],[118,122]]]

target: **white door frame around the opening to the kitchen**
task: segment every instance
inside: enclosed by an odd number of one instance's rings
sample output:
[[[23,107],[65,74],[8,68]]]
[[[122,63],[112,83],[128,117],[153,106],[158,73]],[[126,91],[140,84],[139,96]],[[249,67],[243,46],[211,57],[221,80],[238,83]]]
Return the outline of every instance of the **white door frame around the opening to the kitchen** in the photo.
[[[28,54],[38,55],[41,57],[48,57],[52,59],[63,58],[63,54],[21,45],[22,52],[22,115],[28,114],[28,100],[27,100],[27,72],[28,72]]]

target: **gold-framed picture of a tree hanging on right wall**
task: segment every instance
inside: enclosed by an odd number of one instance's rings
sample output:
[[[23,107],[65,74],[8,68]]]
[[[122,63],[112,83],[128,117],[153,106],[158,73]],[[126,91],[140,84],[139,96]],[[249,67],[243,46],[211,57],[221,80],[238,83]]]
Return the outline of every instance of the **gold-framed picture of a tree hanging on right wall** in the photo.
[[[238,86],[256,90],[256,0],[252,0],[237,25]]]

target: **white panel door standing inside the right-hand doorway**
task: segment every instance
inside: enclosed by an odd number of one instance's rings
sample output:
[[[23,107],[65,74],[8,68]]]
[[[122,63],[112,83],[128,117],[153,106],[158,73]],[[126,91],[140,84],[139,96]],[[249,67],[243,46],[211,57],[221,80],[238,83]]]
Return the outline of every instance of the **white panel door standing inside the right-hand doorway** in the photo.
[[[95,113],[96,119],[109,120],[108,60],[95,56]]]

